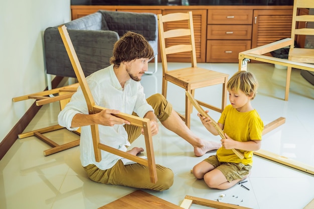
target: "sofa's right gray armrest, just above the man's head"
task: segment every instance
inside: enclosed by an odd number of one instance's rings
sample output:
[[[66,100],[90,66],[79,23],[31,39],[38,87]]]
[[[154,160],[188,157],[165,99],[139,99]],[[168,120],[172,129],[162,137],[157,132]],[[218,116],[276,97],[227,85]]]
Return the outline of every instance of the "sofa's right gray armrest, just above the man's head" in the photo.
[[[157,16],[152,13],[131,13],[98,11],[103,15],[103,21],[110,31],[115,31],[119,36],[132,31],[144,36],[147,41],[158,40]]]

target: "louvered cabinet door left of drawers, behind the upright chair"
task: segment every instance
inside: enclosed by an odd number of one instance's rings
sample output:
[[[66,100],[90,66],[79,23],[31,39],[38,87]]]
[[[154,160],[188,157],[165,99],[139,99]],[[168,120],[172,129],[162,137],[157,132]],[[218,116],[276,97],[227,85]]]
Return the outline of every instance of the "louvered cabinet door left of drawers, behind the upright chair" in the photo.
[[[164,10],[163,15],[167,15],[170,13],[187,13],[192,11],[193,14],[193,26],[194,26],[194,37],[195,37],[195,47],[196,47],[196,58],[197,62],[205,63],[206,59],[206,10]],[[180,25],[180,21],[174,23],[166,23],[165,30],[171,30],[177,28]],[[186,24],[184,24],[186,26]],[[182,26],[182,27],[184,27]],[[177,39],[168,39],[166,42],[166,46],[172,46],[176,42]],[[180,38],[180,43],[189,43],[189,39],[182,37]],[[177,44],[177,43],[176,43]],[[191,53],[178,53],[174,55],[169,55],[167,60],[169,62],[191,62]]]

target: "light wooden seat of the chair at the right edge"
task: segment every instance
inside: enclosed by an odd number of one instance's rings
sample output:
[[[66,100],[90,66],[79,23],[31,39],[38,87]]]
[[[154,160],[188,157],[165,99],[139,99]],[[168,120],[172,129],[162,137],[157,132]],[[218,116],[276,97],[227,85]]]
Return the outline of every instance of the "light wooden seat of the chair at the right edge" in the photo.
[[[314,49],[293,48],[288,59],[300,63],[314,63]]]

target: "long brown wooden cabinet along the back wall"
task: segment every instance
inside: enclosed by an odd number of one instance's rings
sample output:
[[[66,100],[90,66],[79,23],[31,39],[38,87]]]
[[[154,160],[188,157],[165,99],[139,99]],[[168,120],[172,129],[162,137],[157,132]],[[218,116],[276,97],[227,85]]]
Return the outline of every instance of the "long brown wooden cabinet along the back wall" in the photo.
[[[292,9],[292,6],[71,6],[72,20],[98,10],[163,15],[192,11],[199,63],[237,63],[239,52],[290,37]],[[166,44],[171,46],[173,42],[176,40]],[[169,61],[189,62],[190,57],[189,53],[182,53]]]

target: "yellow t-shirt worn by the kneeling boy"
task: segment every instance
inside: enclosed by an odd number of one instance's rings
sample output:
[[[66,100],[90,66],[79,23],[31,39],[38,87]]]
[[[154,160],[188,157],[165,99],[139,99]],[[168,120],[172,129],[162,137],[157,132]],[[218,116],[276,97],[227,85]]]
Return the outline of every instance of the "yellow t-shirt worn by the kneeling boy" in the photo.
[[[264,124],[256,110],[238,112],[232,105],[227,105],[222,112],[219,123],[224,124],[224,132],[236,141],[261,140]],[[240,159],[231,149],[220,147],[217,157],[220,162],[243,163],[252,165],[253,151],[239,149],[244,158]]]

